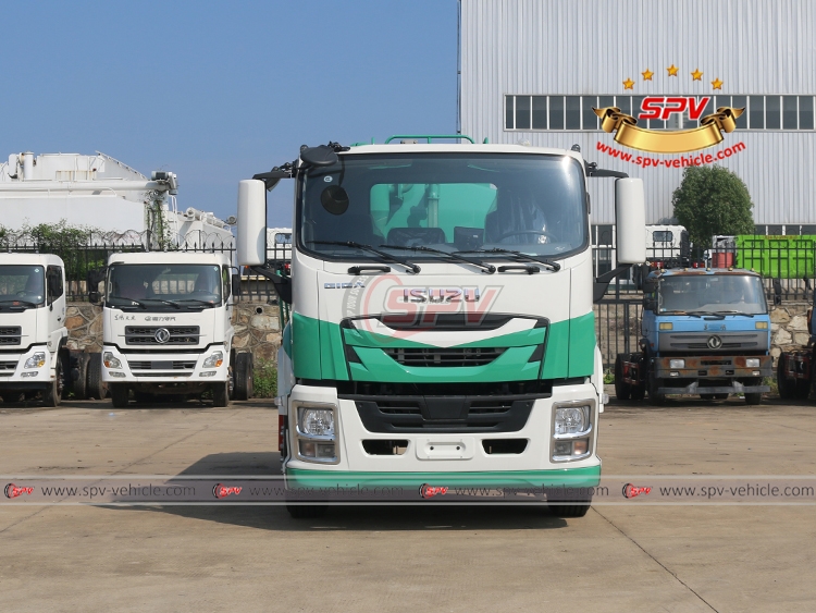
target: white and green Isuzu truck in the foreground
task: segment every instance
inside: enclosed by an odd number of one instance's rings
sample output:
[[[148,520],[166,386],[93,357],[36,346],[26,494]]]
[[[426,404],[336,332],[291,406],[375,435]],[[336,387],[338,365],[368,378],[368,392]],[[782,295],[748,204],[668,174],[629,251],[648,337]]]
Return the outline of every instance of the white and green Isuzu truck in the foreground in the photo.
[[[555,514],[581,516],[599,481],[605,399],[593,299],[645,261],[643,185],[577,150],[438,138],[462,143],[304,146],[240,182],[239,263],[290,305],[279,353],[287,490],[368,502],[537,491],[559,501]],[[592,272],[591,176],[617,177],[623,266],[605,279]],[[265,191],[285,177],[290,277],[267,266],[264,244]]]

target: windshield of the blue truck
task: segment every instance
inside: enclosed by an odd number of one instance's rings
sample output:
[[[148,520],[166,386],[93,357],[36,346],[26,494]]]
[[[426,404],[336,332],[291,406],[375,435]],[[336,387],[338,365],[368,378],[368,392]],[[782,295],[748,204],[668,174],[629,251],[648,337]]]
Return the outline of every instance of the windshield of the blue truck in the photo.
[[[665,277],[658,308],[660,312],[768,312],[762,280],[746,274]]]

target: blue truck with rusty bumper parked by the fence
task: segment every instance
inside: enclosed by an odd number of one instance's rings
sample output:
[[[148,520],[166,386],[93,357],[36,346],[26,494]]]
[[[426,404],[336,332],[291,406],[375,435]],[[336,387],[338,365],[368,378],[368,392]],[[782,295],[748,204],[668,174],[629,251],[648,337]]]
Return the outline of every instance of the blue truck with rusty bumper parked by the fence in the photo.
[[[762,277],[749,270],[656,270],[643,286],[640,352],[619,354],[621,400],[670,394],[759,404],[772,376],[770,318]]]

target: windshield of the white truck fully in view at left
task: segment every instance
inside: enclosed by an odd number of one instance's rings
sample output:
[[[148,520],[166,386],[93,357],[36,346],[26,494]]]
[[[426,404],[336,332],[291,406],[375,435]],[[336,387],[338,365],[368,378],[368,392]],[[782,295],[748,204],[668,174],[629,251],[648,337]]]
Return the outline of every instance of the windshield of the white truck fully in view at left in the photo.
[[[106,302],[151,310],[219,306],[221,270],[214,265],[112,265]]]

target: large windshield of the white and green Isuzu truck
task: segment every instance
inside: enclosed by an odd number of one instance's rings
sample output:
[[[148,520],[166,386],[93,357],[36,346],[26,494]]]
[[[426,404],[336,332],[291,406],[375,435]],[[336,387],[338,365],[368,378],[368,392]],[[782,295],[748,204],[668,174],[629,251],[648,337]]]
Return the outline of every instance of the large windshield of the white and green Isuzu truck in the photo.
[[[499,247],[551,257],[586,242],[583,171],[569,156],[341,156],[336,164],[308,170],[301,182],[301,247],[329,257],[348,259],[354,253],[354,259],[380,259],[321,242],[447,253]],[[444,254],[410,254],[410,259],[440,257]]]

